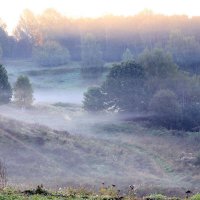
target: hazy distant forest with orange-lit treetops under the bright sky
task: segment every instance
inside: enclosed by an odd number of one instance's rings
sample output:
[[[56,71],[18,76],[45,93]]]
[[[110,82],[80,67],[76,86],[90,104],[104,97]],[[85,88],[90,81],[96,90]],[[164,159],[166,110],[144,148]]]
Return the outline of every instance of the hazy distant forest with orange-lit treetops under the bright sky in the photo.
[[[198,71],[200,17],[164,16],[144,11],[135,16],[71,19],[48,9],[41,15],[25,10],[8,36],[1,26],[0,44],[5,57],[30,58],[34,49],[56,41],[69,50],[72,60],[82,60],[83,38],[95,37],[105,62],[121,60],[128,48],[137,57],[145,48],[163,48],[184,69]],[[62,63],[62,62],[61,62]]]

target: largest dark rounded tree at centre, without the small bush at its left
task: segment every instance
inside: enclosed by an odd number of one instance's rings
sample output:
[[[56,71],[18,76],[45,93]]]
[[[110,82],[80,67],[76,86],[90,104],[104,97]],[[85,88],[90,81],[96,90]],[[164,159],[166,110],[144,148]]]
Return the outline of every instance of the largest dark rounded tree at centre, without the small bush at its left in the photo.
[[[102,85],[108,108],[120,111],[140,111],[145,106],[145,73],[134,61],[114,65]]]

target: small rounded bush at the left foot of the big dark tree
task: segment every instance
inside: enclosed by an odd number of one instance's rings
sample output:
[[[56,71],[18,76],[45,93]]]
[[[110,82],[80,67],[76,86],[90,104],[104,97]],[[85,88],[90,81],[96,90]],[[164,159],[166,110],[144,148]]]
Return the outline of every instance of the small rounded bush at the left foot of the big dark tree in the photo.
[[[100,111],[104,109],[104,94],[100,87],[91,87],[84,93],[84,109]]]

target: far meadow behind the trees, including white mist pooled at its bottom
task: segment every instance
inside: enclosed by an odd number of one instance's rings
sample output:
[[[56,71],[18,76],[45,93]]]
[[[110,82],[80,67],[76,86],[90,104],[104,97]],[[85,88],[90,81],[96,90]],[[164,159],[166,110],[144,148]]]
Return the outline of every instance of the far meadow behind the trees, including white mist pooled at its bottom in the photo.
[[[91,85],[99,85],[103,79],[84,79],[80,64],[72,62],[59,67],[41,67],[31,60],[4,61],[12,84],[19,75],[27,75],[34,87],[34,97],[39,102],[81,103],[83,93]],[[110,67],[110,65],[108,65]],[[106,68],[108,68],[106,65]]]

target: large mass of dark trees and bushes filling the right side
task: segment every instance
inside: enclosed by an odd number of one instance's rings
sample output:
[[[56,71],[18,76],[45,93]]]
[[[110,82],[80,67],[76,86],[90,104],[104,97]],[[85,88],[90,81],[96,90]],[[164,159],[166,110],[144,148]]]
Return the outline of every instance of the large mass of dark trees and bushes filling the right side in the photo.
[[[85,93],[90,97],[84,101],[85,108],[100,105],[98,110],[152,112],[154,124],[199,131],[200,77],[178,70],[172,57],[161,49],[146,50],[139,62],[113,65],[98,96]]]

